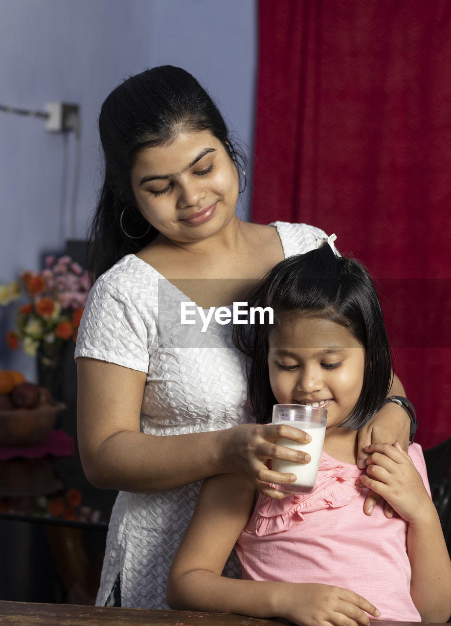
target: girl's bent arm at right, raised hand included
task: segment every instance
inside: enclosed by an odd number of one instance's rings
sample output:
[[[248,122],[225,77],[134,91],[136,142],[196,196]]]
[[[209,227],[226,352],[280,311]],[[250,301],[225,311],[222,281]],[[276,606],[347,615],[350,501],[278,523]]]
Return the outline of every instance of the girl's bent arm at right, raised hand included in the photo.
[[[423,622],[446,622],[451,615],[451,562],[422,477],[398,442],[372,445],[367,451],[363,485],[379,493],[408,522],[413,603]]]

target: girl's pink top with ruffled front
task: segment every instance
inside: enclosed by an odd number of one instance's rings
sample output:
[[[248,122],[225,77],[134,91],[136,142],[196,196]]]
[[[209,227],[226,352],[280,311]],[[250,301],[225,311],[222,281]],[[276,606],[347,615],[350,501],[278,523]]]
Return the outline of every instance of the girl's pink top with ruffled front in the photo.
[[[430,493],[422,449],[409,454]],[[259,495],[236,552],[246,580],[336,585],[359,593],[377,607],[380,620],[420,622],[410,597],[407,523],[389,520],[380,500],[368,516],[363,474],[323,452],[314,490],[272,500]]]

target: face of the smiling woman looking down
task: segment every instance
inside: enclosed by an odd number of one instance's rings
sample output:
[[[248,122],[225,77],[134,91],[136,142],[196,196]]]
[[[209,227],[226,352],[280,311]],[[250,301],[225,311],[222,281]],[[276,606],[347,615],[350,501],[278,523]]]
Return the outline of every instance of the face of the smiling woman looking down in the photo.
[[[141,150],[130,179],[142,215],[175,242],[211,237],[234,218],[238,173],[209,131],[183,133]]]

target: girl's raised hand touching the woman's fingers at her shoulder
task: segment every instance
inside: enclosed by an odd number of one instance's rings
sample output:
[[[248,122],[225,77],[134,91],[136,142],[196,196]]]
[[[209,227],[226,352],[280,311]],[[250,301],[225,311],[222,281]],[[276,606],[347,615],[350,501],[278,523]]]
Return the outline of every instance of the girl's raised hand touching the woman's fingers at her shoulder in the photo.
[[[430,510],[430,499],[412,459],[398,441],[367,446],[365,487],[378,493],[409,523],[419,521]]]

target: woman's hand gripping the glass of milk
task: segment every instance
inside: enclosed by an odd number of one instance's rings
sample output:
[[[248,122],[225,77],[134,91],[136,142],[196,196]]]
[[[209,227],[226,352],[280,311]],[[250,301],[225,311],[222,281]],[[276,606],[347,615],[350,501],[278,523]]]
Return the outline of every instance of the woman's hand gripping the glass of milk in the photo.
[[[242,424],[225,431],[228,433],[225,458],[227,471],[246,476],[258,491],[281,500],[289,493],[277,491],[270,485],[286,485],[296,480],[294,474],[280,474],[267,468],[267,459],[283,459],[294,463],[309,463],[310,455],[298,450],[277,446],[277,439],[293,439],[297,443],[309,443],[308,433],[286,424]]]

